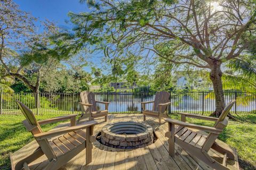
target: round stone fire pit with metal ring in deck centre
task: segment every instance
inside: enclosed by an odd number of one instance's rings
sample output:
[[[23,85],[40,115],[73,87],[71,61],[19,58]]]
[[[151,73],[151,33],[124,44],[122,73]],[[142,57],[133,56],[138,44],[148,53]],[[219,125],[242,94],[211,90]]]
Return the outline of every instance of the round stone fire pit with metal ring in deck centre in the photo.
[[[142,148],[153,143],[153,128],[150,125],[137,122],[118,122],[107,124],[101,130],[103,145],[132,149]]]

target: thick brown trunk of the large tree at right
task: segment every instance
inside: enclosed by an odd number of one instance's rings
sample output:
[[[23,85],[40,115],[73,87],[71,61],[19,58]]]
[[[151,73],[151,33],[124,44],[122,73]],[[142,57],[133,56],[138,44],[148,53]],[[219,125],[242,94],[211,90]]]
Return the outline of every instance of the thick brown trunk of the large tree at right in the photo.
[[[210,79],[213,84],[214,95],[215,95],[215,111],[211,115],[215,115],[217,117],[220,116],[221,112],[225,107],[225,98],[222,89],[222,72],[220,69],[221,63],[218,61],[214,61],[211,67]]]

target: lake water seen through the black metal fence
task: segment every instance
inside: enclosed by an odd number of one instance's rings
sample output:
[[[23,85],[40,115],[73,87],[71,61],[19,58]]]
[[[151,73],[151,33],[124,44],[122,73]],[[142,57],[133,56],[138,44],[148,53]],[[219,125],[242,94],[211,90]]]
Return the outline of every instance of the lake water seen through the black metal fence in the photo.
[[[110,113],[120,112],[140,112],[141,101],[154,100],[155,95],[134,95],[134,94],[95,94],[95,99],[99,101],[108,101]],[[225,96],[226,103],[233,99],[233,96]],[[74,105],[73,105],[74,101]],[[80,111],[79,95],[73,98],[63,96],[60,98],[60,102],[55,104],[60,110]],[[205,98],[205,96],[199,95],[178,95],[171,98],[172,105],[170,106],[171,112],[202,112],[202,111],[214,111],[215,100]],[[98,109],[104,109],[105,105],[98,104]],[[152,109],[152,104],[146,105],[147,109]],[[237,112],[250,112],[256,110],[256,100],[249,101],[246,105],[237,105]],[[232,111],[235,111],[233,107]]]

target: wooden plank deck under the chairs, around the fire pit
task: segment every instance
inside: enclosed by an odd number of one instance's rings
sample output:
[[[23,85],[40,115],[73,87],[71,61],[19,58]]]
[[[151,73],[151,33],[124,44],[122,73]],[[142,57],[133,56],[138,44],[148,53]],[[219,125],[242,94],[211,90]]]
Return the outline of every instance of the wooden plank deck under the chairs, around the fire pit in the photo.
[[[142,114],[110,114],[108,121],[103,122],[104,118],[95,119],[99,124],[95,126],[94,134],[98,134],[101,128],[107,123],[121,121],[143,121]],[[164,122],[164,121],[163,121]],[[147,117],[146,123],[153,126],[157,140],[152,145],[139,149],[115,149],[101,145],[98,141],[93,143],[92,163],[85,165],[85,150],[71,159],[65,167],[60,169],[212,169],[207,167],[203,162],[200,162],[186,151],[182,150],[178,145],[175,145],[175,157],[172,158],[168,153],[167,138],[165,132],[167,123],[158,124],[157,118]],[[60,124],[57,128],[67,126]],[[227,145],[224,143],[223,145]],[[30,154],[38,147],[36,141],[28,143],[20,150],[11,154],[12,165],[17,163],[22,157]],[[223,155],[216,151],[210,150],[211,156],[218,162],[222,162]],[[239,169],[238,161],[227,160],[230,169]],[[41,163],[43,162],[43,163]],[[43,169],[47,163],[45,156],[42,156],[29,164],[30,169]]]

